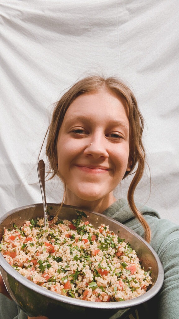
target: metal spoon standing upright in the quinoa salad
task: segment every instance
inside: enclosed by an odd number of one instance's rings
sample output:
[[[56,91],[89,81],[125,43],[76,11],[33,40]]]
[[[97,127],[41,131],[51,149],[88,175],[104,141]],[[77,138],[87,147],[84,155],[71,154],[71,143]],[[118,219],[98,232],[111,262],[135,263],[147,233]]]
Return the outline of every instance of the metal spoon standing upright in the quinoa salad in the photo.
[[[48,216],[47,216],[47,202],[46,202],[46,193],[45,193],[45,163],[43,159],[40,159],[37,166],[40,189],[42,193],[43,209],[44,209],[44,224],[47,226]]]

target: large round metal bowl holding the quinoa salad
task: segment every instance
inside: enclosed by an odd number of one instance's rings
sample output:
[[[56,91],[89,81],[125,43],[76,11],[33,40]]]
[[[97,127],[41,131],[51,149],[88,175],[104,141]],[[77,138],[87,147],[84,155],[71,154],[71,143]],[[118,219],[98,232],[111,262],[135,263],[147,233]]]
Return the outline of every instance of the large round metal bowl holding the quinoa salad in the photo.
[[[59,204],[47,204],[52,206],[50,214],[54,215]],[[61,219],[72,220],[77,217],[76,210],[79,208],[74,206],[63,205],[60,212]],[[154,249],[144,241],[138,234],[130,228],[124,226],[118,221],[108,218],[102,214],[84,211],[88,216],[89,222],[94,226],[109,225],[110,230],[118,234],[125,241],[128,241],[132,248],[136,251],[142,267],[147,271],[149,267],[152,269],[153,284],[150,289],[140,297],[116,302],[92,302],[78,300],[57,293],[53,293],[43,287],[40,287],[29,281],[18,271],[14,270],[0,253],[0,271],[4,280],[4,284],[11,295],[11,298],[20,306],[20,308],[30,316],[44,315],[49,318],[61,318],[63,315],[76,315],[78,318],[113,318],[118,312],[121,318],[126,316],[129,308],[138,305],[153,298],[161,289],[164,272],[161,261]],[[22,226],[26,220],[43,217],[43,205],[32,204],[11,210],[0,218],[0,240],[2,239],[4,227],[10,228],[15,223],[18,227]],[[85,220],[85,217],[82,217]],[[116,316],[115,316],[116,317]]]

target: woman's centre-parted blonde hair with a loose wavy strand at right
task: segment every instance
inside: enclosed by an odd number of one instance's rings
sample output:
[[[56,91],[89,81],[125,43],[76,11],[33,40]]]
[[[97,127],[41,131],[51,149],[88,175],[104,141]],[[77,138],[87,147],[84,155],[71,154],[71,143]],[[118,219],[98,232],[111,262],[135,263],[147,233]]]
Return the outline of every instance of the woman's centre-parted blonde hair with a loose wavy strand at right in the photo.
[[[106,89],[109,92],[115,94],[120,99],[125,101],[125,105],[128,108],[129,114],[129,161],[131,163],[130,172],[126,172],[125,178],[128,174],[135,168],[135,174],[133,176],[132,182],[128,189],[127,199],[129,207],[131,208],[134,216],[140,221],[145,230],[145,239],[147,242],[151,240],[150,227],[146,220],[137,209],[134,203],[134,191],[137,184],[139,183],[145,167],[145,149],[142,144],[142,132],[144,128],[144,120],[140,113],[137,105],[137,101],[132,93],[131,89],[120,79],[115,77],[104,78],[101,76],[88,76],[79,80],[61,97],[61,99],[56,103],[54,112],[52,115],[51,123],[47,130],[47,145],[46,145],[46,155],[49,160],[50,169],[52,170],[53,178],[55,175],[59,176],[58,167],[56,165],[57,158],[57,138],[58,133],[61,128],[65,113],[70,106],[70,104],[79,96],[84,93],[93,93],[100,89]]]

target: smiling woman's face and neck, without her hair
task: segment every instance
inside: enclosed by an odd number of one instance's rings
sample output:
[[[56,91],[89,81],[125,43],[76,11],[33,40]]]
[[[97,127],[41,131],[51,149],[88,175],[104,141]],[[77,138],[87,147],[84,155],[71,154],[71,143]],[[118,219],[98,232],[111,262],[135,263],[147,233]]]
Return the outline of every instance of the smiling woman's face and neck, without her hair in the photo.
[[[129,120],[122,100],[106,90],[82,94],[69,106],[57,141],[65,204],[102,211],[129,166]]]

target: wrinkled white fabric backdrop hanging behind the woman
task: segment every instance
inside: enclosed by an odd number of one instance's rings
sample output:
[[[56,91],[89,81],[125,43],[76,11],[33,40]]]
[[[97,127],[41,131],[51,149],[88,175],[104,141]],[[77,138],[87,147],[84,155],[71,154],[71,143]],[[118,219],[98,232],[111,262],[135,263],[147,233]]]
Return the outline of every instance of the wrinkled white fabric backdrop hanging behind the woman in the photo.
[[[0,215],[42,202],[37,158],[52,104],[104,73],[131,85],[145,118],[152,188],[146,169],[136,200],[179,224],[178,21],[178,0],[0,1]],[[47,182],[46,195],[60,202],[61,184]]]

